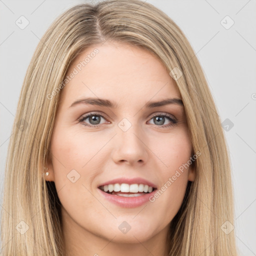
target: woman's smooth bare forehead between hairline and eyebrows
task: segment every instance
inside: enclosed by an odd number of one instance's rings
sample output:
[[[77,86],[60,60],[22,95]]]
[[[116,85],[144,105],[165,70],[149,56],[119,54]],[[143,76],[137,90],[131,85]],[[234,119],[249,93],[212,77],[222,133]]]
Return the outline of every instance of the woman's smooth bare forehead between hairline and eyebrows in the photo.
[[[85,96],[120,103],[180,98],[163,63],[140,46],[120,42],[90,46],[74,59],[67,76],[72,73],[61,91],[61,101],[66,103]]]

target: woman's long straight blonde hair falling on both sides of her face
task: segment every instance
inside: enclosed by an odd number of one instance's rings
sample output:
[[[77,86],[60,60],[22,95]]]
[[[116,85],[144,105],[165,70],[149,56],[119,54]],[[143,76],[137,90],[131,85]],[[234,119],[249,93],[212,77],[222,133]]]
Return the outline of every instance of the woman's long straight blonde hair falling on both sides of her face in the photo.
[[[64,255],[60,202],[54,182],[42,176],[61,92],[74,58],[107,40],[142,46],[175,79],[184,104],[196,177],[171,221],[169,255],[237,255],[230,164],[220,119],[202,68],[179,27],[140,0],[78,4],[42,36],[28,66],[9,142],[1,209],[2,255]],[[56,91],[56,88],[60,88]],[[52,93],[54,92],[54,93]]]

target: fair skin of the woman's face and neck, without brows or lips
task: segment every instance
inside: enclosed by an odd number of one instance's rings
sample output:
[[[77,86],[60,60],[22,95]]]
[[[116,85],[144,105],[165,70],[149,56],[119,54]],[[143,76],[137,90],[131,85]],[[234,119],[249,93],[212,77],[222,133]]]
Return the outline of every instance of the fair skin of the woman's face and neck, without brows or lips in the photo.
[[[189,160],[192,145],[183,106],[144,107],[148,101],[181,98],[179,90],[154,55],[114,41],[87,48],[67,73],[95,48],[98,54],[61,90],[45,176],[55,182],[62,204],[66,255],[165,256],[169,223],[180,208],[187,181],[194,180],[193,168],[184,169],[154,202],[134,208],[109,202],[97,186],[117,177],[142,177],[160,189]],[[118,107],[70,107],[85,97],[108,99]],[[97,117],[98,127],[83,125],[96,125],[90,118],[78,121],[92,111],[103,115]],[[177,123],[166,117],[159,123],[153,113],[167,113]],[[125,132],[118,126],[123,118],[131,123]],[[80,175],[75,182],[67,178],[72,169]],[[123,221],[131,226],[125,234],[118,229]]]

